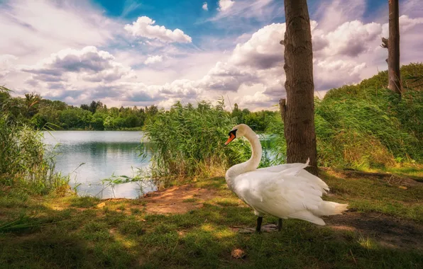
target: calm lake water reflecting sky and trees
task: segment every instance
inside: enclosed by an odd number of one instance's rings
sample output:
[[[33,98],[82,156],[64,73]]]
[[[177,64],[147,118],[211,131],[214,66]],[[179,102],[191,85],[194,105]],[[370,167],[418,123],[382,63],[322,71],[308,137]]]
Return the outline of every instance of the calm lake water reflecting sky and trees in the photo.
[[[72,188],[77,187],[79,195],[95,195],[103,199],[137,198],[143,193],[156,190],[152,182],[113,186],[102,182],[112,175],[131,177],[137,168],[148,167],[152,152],[150,147],[145,147],[146,158],[139,156],[142,138],[143,132],[44,132],[45,144],[56,146],[56,171],[61,171],[63,175],[70,173],[70,185]]]

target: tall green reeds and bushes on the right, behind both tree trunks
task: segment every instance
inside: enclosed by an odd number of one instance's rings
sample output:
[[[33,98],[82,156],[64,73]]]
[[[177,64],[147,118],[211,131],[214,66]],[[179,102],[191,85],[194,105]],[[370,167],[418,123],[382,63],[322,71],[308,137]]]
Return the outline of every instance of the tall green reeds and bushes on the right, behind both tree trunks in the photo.
[[[407,76],[423,76],[423,64],[402,67]],[[415,79],[414,79],[415,81]],[[387,88],[386,71],[361,84],[331,89],[315,99],[319,165],[342,168],[385,168],[398,162],[422,161],[423,91],[405,88],[402,97]],[[276,116],[268,132],[277,134],[278,152],[285,152],[283,125]],[[285,161],[278,155],[275,163]]]

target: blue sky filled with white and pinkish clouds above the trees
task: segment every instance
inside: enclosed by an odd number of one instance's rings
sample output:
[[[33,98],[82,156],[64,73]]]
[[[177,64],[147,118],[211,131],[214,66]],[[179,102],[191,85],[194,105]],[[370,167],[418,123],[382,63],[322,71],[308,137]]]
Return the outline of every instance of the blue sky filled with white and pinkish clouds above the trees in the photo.
[[[387,69],[388,1],[307,1],[315,96]],[[276,109],[280,0],[0,0],[0,85],[71,105]],[[423,62],[422,0],[400,0],[401,64]]]

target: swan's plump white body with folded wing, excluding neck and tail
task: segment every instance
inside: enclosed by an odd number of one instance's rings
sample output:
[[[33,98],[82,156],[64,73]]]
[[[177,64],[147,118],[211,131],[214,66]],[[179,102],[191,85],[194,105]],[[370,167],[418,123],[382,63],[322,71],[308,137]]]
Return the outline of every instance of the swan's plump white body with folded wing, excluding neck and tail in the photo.
[[[235,192],[258,212],[289,217],[304,210],[317,210],[322,202],[324,188],[315,182],[317,177],[308,174],[300,167],[280,173],[257,169],[235,178]]]

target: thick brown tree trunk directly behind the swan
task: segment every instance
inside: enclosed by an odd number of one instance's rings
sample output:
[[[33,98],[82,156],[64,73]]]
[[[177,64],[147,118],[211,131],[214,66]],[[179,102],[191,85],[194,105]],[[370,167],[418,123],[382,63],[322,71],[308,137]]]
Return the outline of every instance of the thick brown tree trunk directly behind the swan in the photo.
[[[317,175],[314,132],[314,81],[312,33],[307,0],[285,0],[285,139],[287,163],[310,159],[310,173]]]

